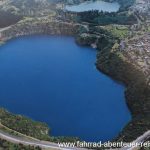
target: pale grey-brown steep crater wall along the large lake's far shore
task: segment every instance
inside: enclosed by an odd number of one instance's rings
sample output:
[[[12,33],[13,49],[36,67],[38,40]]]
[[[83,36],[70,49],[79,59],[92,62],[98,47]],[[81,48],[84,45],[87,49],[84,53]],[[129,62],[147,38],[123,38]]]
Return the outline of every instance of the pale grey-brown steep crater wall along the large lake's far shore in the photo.
[[[83,25],[49,19],[27,18],[1,32],[1,40],[33,34],[75,35]]]

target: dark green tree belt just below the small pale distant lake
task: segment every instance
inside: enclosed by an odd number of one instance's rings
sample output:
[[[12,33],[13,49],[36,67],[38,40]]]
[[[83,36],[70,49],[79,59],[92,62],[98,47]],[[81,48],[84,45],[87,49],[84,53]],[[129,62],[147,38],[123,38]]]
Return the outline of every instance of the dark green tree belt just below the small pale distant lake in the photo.
[[[80,22],[88,22],[95,25],[109,25],[109,24],[120,24],[120,25],[131,25],[137,22],[133,14],[126,12],[122,13],[109,13],[99,12],[98,10],[79,12],[77,14],[77,20]]]

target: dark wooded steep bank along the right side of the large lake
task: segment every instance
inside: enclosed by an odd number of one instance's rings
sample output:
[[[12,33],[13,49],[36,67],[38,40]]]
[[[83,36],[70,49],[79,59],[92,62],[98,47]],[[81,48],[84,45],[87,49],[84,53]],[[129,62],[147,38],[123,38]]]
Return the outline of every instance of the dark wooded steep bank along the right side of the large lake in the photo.
[[[126,85],[125,96],[132,120],[117,139],[132,141],[150,128],[150,87],[146,76],[119,49],[101,49],[96,65],[100,71]]]

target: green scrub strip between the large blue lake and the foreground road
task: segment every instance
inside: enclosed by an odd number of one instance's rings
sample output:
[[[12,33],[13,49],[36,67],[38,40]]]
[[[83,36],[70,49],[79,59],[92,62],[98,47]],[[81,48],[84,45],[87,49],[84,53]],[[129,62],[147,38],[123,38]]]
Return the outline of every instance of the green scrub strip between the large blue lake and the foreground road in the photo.
[[[22,133],[27,136],[31,136],[40,140],[46,140],[51,142],[75,142],[79,141],[77,137],[53,137],[49,136],[49,127],[45,123],[33,121],[27,117],[21,115],[12,114],[5,109],[0,108],[0,121],[1,124]],[[3,126],[0,129],[8,134],[22,136],[17,132],[13,132],[4,128]]]

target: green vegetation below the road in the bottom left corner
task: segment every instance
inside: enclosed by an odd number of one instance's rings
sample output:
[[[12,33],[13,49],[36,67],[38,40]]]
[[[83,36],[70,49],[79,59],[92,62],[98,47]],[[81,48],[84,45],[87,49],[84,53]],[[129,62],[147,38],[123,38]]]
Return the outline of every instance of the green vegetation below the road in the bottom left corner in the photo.
[[[41,150],[40,147],[24,146],[22,144],[13,144],[0,139],[0,150]]]

